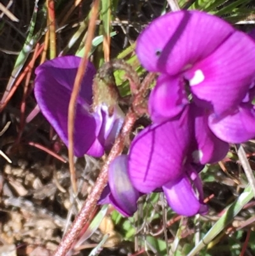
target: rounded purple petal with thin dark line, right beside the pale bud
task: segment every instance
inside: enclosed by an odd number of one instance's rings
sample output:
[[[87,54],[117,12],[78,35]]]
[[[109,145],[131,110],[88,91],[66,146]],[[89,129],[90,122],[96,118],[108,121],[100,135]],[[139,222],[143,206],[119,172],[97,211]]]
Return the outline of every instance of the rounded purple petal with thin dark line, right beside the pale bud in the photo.
[[[193,126],[189,111],[173,121],[145,128],[129,152],[129,177],[137,190],[149,193],[182,174]]]

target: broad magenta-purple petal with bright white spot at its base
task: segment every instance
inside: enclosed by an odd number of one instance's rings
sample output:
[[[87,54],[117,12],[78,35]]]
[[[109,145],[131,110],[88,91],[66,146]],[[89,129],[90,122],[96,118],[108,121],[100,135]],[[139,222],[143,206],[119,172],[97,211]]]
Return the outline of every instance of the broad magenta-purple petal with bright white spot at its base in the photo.
[[[215,114],[221,116],[242,102],[254,82],[254,59],[255,42],[237,31],[184,75],[191,91],[212,103]]]

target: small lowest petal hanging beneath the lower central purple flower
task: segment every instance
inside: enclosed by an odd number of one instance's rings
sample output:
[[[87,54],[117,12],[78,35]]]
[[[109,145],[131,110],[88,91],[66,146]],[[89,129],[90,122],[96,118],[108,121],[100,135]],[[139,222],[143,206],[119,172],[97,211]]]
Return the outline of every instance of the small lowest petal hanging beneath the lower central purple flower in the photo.
[[[199,183],[201,180],[197,176],[194,184],[198,186],[198,193],[201,193],[200,198],[196,197],[191,181],[186,174],[179,177],[177,181],[171,181],[163,186],[164,195],[166,195],[166,200],[173,211],[184,216],[207,213],[207,206],[203,203],[203,191],[201,191]]]

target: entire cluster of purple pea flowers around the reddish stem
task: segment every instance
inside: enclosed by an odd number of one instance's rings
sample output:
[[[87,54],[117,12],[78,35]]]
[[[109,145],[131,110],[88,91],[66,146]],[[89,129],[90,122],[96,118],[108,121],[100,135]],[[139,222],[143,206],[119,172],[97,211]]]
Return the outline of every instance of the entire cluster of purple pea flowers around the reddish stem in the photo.
[[[128,156],[113,160],[99,203],[123,215],[135,213],[138,197],[163,190],[180,215],[206,213],[199,172],[222,160],[230,143],[255,137],[255,33],[237,31],[200,11],[177,11],[154,20],[138,37],[142,66],[159,74],[149,96],[152,124],[138,133]],[[68,104],[80,58],[58,57],[36,69],[41,111],[68,145]],[[75,154],[101,156],[123,122],[116,107],[91,111],[89,63],[77,102]]]

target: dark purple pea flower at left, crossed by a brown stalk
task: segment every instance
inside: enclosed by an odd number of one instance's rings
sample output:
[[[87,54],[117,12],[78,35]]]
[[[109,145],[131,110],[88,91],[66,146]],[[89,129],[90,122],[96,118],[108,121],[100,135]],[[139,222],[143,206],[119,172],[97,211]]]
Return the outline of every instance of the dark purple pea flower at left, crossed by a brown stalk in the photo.
[[[34,94],[43,115],[68,146],[68,105],[80,57],[64,56],[46,61],[36,68]],[[92,112],[92,81],[96,70],[88,63],[77,100],[75,116],[75,155],[99,157],[112,144],[123,122],[115,107],[112,116],[104,104]]]

